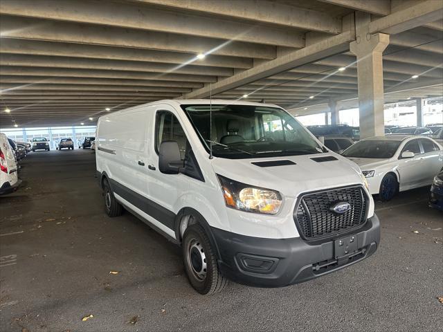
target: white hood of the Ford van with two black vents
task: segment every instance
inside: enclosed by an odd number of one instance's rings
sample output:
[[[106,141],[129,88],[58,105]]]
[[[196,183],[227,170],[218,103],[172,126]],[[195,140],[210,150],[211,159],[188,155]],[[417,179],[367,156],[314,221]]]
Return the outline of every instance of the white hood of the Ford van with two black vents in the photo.
[[[316,158],[333,160],[316,160]],[[280,160],[280,161],[279,161]],[[289,160],[292,165],[254,165]],[[215,173],[255,187],[277,190],[284,196],[296,197],[301,192],[331,187],[362,184],[360,170],[350,160],[336,154],[309,154],[275,158],[226,159],[214,158]]]

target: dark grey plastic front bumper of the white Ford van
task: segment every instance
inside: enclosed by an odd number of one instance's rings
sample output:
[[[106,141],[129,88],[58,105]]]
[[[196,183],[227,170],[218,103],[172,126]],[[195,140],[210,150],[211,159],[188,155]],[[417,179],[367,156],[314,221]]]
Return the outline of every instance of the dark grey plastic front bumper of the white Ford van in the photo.
[[[219,250],[219,268],[228,279],[259,287],[282,287],[306,282],[355,264],[372,255],[380,243],[380,223],[374,216],[351,234],[357,250],[336,259],[334,239],[307,242],[300,237],[262,239],[212,228]]]

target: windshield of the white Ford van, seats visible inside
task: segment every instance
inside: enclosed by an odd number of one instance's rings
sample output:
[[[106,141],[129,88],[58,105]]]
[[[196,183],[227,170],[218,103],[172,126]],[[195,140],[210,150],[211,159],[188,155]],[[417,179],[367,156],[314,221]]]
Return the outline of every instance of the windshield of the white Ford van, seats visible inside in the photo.
[[[220,158],[319,154],[322,147],[286,111],[241,104],[181,105],[207,151]]]

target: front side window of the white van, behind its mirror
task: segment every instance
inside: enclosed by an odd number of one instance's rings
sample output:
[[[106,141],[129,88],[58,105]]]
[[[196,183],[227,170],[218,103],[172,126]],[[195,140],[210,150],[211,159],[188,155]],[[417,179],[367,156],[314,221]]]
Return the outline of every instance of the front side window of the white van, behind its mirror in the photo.
[[[165,140],[179,143],[181,160],[185,160],[188,140],[179,120],[169,111],[158,111],[155,122],[155,149],[159,153],[160,144]]]

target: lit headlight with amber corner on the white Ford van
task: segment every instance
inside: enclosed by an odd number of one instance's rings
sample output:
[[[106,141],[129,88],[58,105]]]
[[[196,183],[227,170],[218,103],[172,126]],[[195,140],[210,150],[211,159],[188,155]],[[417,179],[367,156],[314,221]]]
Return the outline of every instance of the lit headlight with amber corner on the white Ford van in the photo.
[[[277,214],[282,206],[282,196],[275,190],[253,187],[217,175],[224,202],[229,208],[245,212]]]

